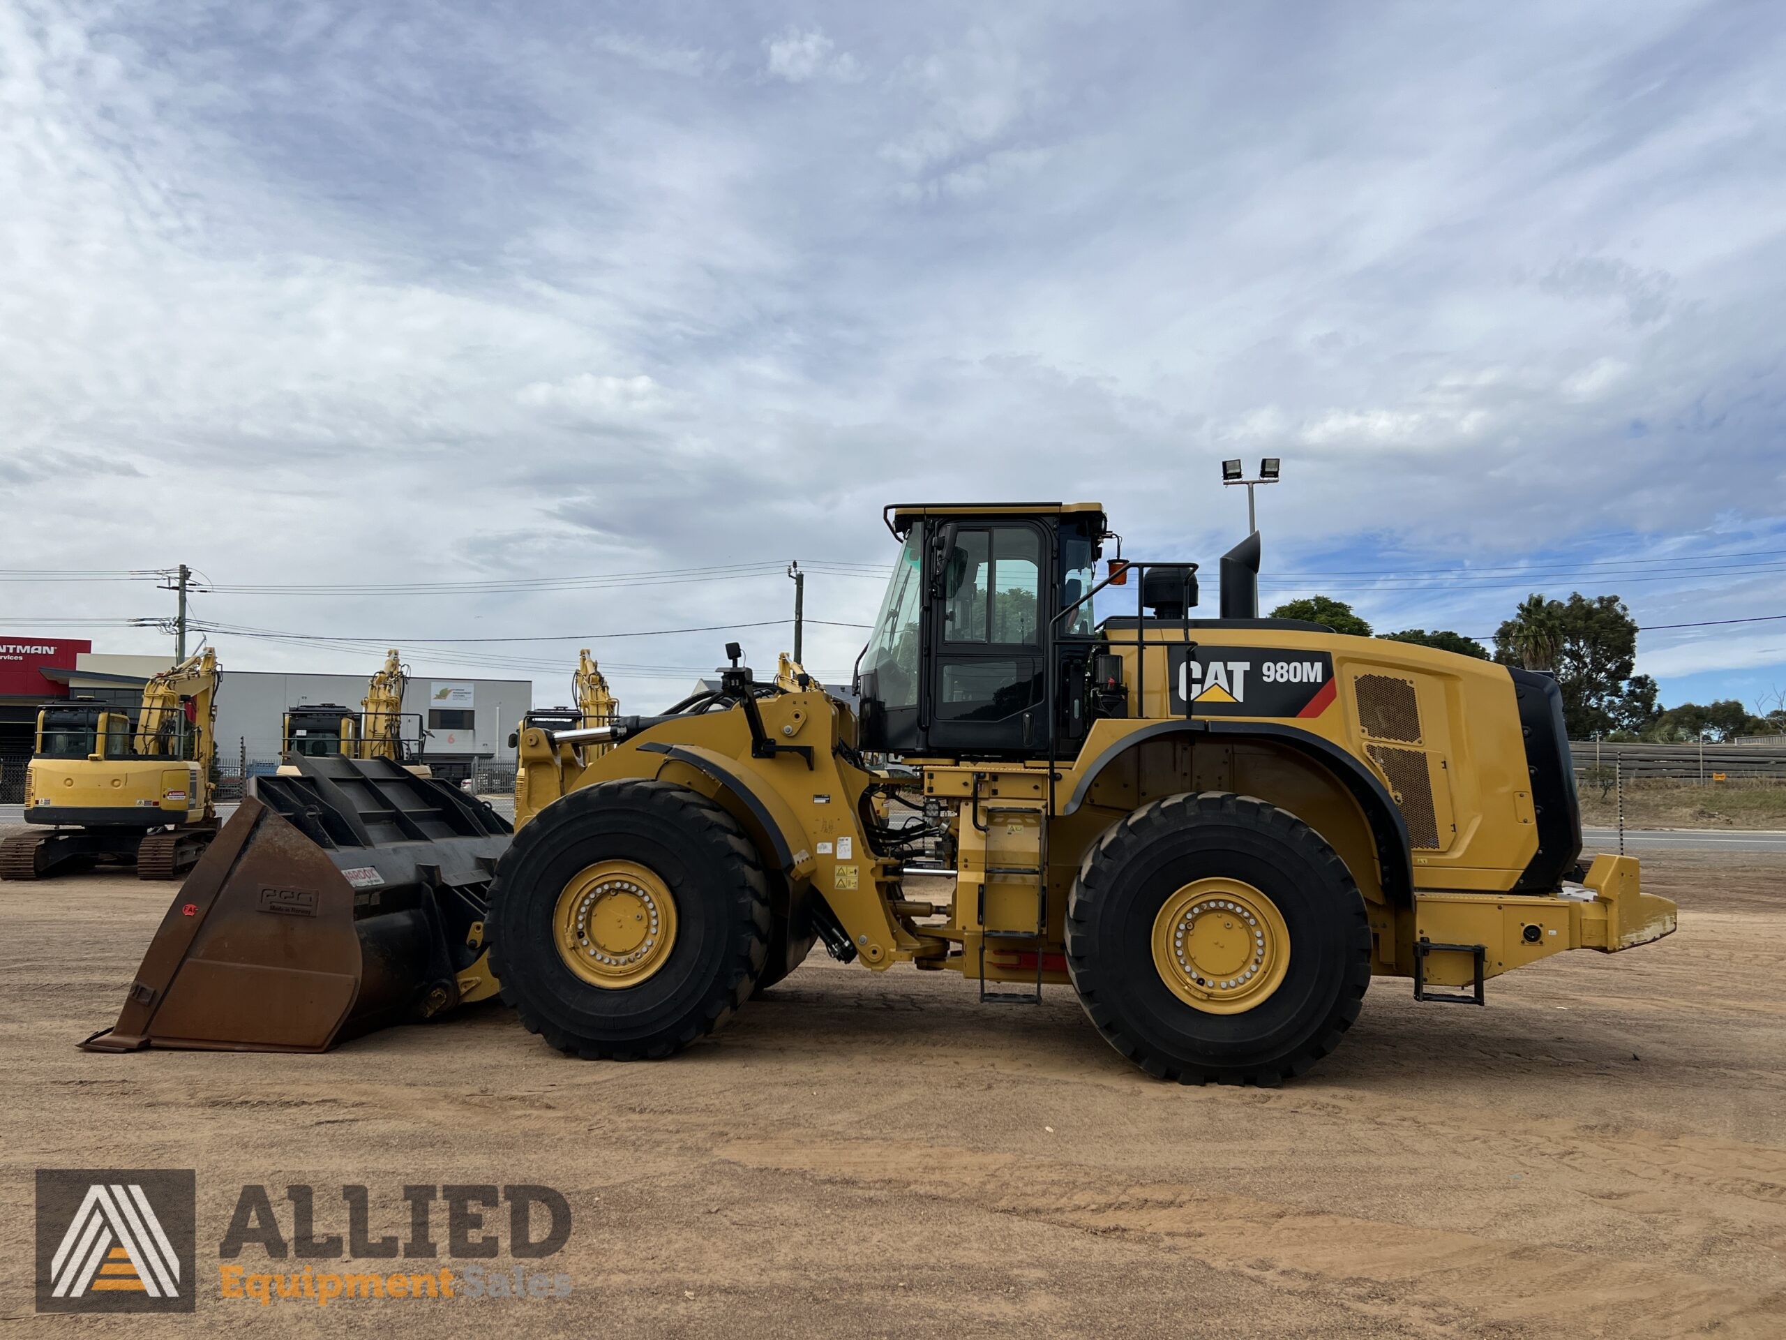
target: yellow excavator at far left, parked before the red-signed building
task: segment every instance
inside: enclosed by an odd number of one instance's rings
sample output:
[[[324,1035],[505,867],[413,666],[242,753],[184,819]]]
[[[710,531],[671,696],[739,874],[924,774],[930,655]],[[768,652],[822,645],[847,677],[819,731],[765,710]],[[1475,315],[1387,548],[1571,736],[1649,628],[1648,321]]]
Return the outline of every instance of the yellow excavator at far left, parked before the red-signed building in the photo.
[[[211,768],[216,691],[209,647],[143,686],[127,708],[91,699],[45,704],[25,770],[25,822],[0,843],[0,879],[41,879],[96,863],[173,879],[216,836]]]

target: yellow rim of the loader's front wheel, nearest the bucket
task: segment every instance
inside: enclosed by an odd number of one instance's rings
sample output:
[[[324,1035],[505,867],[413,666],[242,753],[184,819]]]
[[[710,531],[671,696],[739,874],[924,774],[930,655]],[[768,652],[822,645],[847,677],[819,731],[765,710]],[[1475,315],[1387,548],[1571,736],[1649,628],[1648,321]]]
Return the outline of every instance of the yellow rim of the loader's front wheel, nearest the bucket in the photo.
[[[579,870],[559,893],[554,940],[564,967],[591,986],[638,986],[675,947],[675,899],[636,861]]]

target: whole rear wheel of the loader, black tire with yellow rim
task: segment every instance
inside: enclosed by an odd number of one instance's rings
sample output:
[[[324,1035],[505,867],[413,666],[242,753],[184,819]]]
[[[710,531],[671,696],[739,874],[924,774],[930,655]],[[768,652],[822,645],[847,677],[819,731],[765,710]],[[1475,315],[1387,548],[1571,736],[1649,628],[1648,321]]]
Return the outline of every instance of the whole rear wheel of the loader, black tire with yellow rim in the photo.
[[[1204,933],[1184,929],[1198,917],[1216,918],[1206,959],[1225,963],[1209,981],[1193,947]],[[1104,1038],[1148,1074],[1277,1085],[1357,1018],[1370,922],[1345,863],[1295,815],[1227,791],[1173,795],[1088,852],[1066,904],[1066,970]]]

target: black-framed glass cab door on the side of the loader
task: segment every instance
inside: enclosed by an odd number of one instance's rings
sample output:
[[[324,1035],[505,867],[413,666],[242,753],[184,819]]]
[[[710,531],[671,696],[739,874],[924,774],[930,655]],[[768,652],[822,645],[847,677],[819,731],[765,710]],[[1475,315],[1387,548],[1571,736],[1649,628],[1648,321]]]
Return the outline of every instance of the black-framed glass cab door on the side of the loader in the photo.
[[[1034,522],[950,525],[931,584],[929,747],[1047,749],[1043,702],[1050,545]]]

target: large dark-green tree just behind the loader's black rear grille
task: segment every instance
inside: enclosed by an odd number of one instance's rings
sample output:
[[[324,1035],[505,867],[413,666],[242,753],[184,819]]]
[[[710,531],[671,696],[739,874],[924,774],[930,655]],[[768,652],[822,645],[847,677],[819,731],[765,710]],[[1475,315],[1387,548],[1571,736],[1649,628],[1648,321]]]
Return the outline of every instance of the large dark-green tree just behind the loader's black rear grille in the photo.
[[[1656,681],[1631,674],[1636,656],[1638,624],[1616,595],[1532,595],[1495,632],[1497,661],[1556,674],[1572,740],[1656,724]]]

